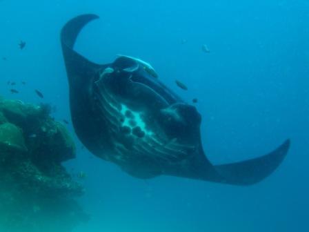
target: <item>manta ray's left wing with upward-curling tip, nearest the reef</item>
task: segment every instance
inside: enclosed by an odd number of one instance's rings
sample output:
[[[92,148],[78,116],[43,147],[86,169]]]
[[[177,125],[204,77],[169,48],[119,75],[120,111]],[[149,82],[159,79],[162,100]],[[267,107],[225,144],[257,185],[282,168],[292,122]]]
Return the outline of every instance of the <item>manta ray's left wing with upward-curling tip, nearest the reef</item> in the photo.
[[[98,123],[94,112],[90,93],[92,82],[100,68],[108,65],[94,64],[85,57],[79,55],[73,48],[79,32],[88,22],[97,19],[97,15],[83,14],[68,21],[61,30],[61,46],[63,59],[66,64],[68,82],[70,87],[70,111],[72,124],[77,136],[83,144],[92,152],[99,150],[99,142],[95,135],[102,133],[106,125]],[[102,136],[102,139],[108,139]]]

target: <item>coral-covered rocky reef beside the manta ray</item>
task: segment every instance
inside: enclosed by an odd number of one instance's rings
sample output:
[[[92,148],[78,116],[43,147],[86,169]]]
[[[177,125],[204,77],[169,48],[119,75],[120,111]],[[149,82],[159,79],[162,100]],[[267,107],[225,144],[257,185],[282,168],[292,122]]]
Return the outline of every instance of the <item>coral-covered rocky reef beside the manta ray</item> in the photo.
[[[70,134],[50,106],[0,98],[0,231],[72,231],[88,220],[82,186],[61,162],[74,159]]]

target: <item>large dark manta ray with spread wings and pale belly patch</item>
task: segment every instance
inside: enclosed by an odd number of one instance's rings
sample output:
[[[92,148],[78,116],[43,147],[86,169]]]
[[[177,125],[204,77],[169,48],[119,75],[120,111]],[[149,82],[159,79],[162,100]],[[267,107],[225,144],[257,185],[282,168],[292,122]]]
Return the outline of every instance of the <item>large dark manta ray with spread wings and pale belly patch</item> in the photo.
[[[74,50],[79,32],[99,17],[83,14],[61,30],[77,137],[88,150],[134,177],[159,175],[246,186],[268,177],[288,153],[287,139],[251,160],[213,165],[201,142],[201,115],[158,78],[150,64],[119,55],[95,64]]]

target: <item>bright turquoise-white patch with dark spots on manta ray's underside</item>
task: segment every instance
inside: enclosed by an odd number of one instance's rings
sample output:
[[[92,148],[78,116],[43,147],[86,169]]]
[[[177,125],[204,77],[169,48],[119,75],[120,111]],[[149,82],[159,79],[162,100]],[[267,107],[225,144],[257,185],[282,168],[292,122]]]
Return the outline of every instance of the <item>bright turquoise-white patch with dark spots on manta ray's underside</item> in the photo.
[[[128,126],[131,131],[134,131],[134,129],[136,130],[136,128],[140,128],[140,133],[149,136],[153,135],[152,131],[146,129],[146,123],[143,122],[143,119],[141,118],[141,113],[137,113],[134,110],[131,110],[125,104],[121,104],[120,113],[124,117],[122,126]]]

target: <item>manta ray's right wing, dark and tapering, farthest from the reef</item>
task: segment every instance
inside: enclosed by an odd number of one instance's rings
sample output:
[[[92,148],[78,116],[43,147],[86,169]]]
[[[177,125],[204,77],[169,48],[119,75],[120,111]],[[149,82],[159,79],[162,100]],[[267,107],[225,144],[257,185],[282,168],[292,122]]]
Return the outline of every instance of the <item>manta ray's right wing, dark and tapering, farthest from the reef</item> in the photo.
[[[222,184],[246,186],[261,182],[281,164],[288,153],[290,140],[283,142],[274,151],[243,162],[215,165],[209,162],[202,149],[186,166],[170,168],[168,175],[187,177]]]

